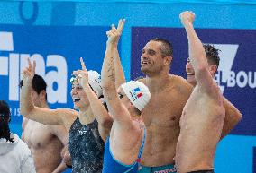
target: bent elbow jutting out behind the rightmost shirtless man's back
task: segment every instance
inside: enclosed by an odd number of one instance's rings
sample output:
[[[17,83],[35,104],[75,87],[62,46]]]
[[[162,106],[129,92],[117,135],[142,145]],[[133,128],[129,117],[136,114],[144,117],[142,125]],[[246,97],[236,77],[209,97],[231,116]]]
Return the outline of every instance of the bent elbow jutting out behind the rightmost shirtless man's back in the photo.
[[[225,135],[229,134],[235,125],[239,123],[242,119],[242,114],[240,111],[233,106],[233,104],[224,98],[224,108],[225,108],[225,118],[224,118],[224,127],[221,135],[221,139]]]

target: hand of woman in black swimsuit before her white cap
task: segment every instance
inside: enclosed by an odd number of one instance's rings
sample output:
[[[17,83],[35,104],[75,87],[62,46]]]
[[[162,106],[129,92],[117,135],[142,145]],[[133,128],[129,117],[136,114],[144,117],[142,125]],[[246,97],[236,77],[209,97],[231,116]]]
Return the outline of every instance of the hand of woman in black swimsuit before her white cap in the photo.
[[[78,82],[81,86],[85,86],[88,83],[88,72],[82,57],[80,57],[80,63],[82,66],[82,70],[73,71],[72,75],[75,75],[77,77]]]

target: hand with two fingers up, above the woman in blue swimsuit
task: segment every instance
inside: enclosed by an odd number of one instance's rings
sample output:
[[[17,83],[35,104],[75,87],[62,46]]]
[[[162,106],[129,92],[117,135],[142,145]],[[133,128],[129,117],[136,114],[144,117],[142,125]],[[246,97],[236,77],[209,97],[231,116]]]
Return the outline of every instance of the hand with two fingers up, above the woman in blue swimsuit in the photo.
[[[115,28],[114,24],[111,25],[111,29],[106,32],[107,35],[107,43],[110,44],[117,44],[120,36],[123,32],[123,26],[124,26],[124,19],[120,19],[118,22],[117,29]]]

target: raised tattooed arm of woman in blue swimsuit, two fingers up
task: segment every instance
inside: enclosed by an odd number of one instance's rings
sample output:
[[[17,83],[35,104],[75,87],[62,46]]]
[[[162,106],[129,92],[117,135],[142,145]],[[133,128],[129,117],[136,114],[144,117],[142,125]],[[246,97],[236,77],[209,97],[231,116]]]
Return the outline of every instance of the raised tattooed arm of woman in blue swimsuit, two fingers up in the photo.
[[[101,76],[107,108],[113,116],[114,121],[125,125],[126,121],[130,121],[130,115],[127,108],[124,108],[117,96],[115,88],[116,74],[114,67],[114,48],[120,38],[120,33],[123,30],[123,24],[124,20],[120,20],[117,29],[112,25],[112,29],[106,33],[108,40],[106,42],[105,59],[102,66]]]

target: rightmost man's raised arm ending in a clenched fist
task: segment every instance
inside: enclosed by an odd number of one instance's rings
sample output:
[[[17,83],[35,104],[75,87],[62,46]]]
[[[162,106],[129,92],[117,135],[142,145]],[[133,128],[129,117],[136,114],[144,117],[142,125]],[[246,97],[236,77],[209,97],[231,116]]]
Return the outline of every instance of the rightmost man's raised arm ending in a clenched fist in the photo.
[[[215,92],[213,90],[214,80],[208,71],[205,49],[193,27],[195,14],[192,12],[183,12],[179,15],[179,18],[187,32],[189,60],[195,70],[197,85],[201,90],[207,93],[213,93]]]

